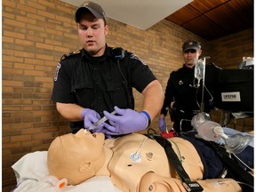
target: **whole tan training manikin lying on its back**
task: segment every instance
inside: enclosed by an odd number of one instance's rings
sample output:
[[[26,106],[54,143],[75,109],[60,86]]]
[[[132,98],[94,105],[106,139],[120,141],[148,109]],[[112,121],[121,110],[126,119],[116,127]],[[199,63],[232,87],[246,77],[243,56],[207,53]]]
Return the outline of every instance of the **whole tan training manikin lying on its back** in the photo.
[[[241,191],[232,179],[202,180],[204,166],[188,140],[169,139],[191,180],[204,191]],[[173,147],[175,146],[175,147]],[[48,169],[59,180],[77,185],[95,175],[108,175],[122,191],[186,191],[179,176],[156,140],[133,133],[118,139],[104,140],[103,133],[80,130],[52,141],[48,150]]]

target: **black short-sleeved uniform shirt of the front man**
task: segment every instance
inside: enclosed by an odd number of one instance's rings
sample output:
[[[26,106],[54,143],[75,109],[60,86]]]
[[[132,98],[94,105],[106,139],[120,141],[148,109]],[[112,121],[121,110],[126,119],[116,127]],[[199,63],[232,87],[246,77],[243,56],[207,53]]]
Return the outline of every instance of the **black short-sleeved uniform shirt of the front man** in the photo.
[[[103,110],[112,112],[115,106],[134,109],[132,87],[142,92],[154,80],[156,76],[132,52],[125,52],[118,64],[107,45],[104,55],[96,58],[82,49],[58,64],[52,100],[76,103],[103,116]]]

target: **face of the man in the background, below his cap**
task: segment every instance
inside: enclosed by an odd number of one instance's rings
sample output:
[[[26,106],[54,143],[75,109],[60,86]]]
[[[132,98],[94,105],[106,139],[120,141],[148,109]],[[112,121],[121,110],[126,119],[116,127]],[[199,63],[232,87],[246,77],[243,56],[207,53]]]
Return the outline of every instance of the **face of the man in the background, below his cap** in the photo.
[[[196,65],[196,61],[201,55],[202,50],[196,51],[194,49],[189,49],[186,52],[183,52],[183,59],[185,61],[185,65],[188,68],[193,68]]]

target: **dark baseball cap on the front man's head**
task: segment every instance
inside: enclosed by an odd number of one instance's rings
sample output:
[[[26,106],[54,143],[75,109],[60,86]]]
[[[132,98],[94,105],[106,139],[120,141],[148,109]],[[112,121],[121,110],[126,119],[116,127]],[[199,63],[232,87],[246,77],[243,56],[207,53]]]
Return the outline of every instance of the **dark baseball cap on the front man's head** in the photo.
[[[105,14],[104,10],[102,9],[102,7],[100,6],[100,4],[95,4],[92,1],[86,1],[77,7],[76,15],[75,15],[76,22],[80,21],[80,17],[82,15],[82,13],[84,13],[86,11],[92,12],[92,14],[94,15],[95,18],[103,19],[105,24],[107,23],[106,14]]]

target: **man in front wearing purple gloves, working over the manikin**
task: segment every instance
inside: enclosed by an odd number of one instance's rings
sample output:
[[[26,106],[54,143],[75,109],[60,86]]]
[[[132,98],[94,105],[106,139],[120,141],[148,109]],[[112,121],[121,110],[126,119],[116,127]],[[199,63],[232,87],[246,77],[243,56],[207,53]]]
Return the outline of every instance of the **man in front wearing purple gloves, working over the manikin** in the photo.
[[[63,55],[57,66],[52,100],[60,115],[69,120],[74,133],[102,116],[108,122],[93,132],[111,137],[145,130],[164,101],[156,76],[132,52],[108,47],[106,15],[99,4],[84,2],[76,9],[75,20],[83,49]],[[132,88],[144,96],[138,112]],[[114,110],[116,115],[110,114]]]

